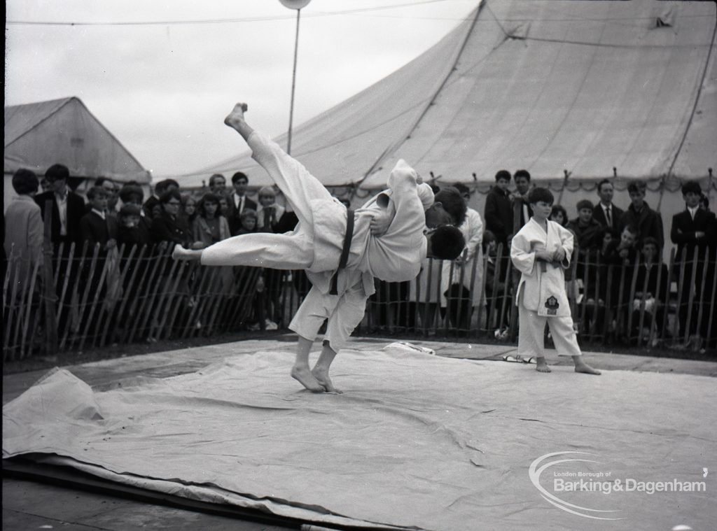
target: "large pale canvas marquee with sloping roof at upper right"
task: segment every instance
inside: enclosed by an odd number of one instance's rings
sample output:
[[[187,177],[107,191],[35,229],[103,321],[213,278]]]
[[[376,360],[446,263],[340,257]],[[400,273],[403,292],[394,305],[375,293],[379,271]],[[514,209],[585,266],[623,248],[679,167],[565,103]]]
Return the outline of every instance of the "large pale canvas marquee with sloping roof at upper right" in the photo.
[[[420,57],[297,128],[293,155],[326,186],[367,189],[398,158],[448,182],[488,183],[500,168],[704,179],[717,163],[716,21],[713,2],[483,0]],[[257,170],[248,153],[179,180],[239,170]]]

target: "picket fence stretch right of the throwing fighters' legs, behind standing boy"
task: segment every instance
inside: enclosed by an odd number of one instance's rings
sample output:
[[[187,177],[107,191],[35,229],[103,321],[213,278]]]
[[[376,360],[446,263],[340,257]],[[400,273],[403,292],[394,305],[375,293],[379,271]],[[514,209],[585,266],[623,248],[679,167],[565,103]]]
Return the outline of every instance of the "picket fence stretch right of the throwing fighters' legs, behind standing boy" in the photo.
[[[499,246],[494,257],[484,256],[482,262],[474,260],[470,269],[456,263],[450,264],[450,268],[424,267],[414,281],[414,290],[410,286],[403,290],[391,291],[391,287],[378,290],[369,301],[360,333],[475,340],[497,338],[514,343],[518,330],[514,295],[520,274],[506,258]],[[601,346],[714,350],[717,343],[714,255],[709,259],[699,257],[695,249],[693,256],[676,257],[675,249],[672,249],[665,265],[666,272],[660,253],[659,262],[652,267],[657,271],[657,286],[665,283],[665,297],[660,301],[657,300],[659,294],[652,294],[657,295],[652,301],[652,297],[647,297],[648,276],[643,275],[642,285],[637,283],[638,272],[645,267],[640,255],[633,264],[615,265],[601,262],[597,253],[579,256],[576,250],[566,274],[569,278],[566,290],[580,342]],[[480,284],[475,283],[475,279],[480,278],[478,267],[483,267]],[[493,268],[498,269],[498,274],[488,276],[488,270]],[[442,297],[447,287],[447,282],[442,282],[445,274],[450,274],[452,283],[459,286],[465,279],[470,279],[470,287],[457,296],[449,292]],[[422,281],[422,276],[427,279]],[[701,277],[700,293],[695,292],[694,282],[688,282],[698,276]],[[421,293],[419,285],[425,285],[429,290]],[[474,290],[478,290],[478,297],[472,296]],[[405,296],[407,291],[410,292],[408,297]],[[476,304],[477,301],[482,303]],[[695,344],[695,335],[701,336],[699,345]]]

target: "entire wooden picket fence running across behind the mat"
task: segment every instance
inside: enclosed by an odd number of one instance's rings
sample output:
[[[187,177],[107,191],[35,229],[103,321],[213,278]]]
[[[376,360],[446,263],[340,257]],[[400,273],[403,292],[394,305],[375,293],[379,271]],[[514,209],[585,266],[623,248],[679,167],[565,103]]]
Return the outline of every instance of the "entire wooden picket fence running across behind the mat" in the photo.
[[[471,267],[462,267],[429,260],[412,282],[377,282],[357,333],[515,342],[513,296],[519,274],[500,246],[494,257],[469,263]],[[646,284],[637,285],[640,267],[640,261],[604,264],[596,254],[573,260],[566,285],[581,343],[685,348],[691,330],[701,334],[703,345],[714,348],[714,257],[698,259],[696,251],[693,257],[675,257],[673,249],[667,295],[657,306],[647,298]],[[662,271],[661,258],[656,267]],[[449,286],[445,293],[445,275],[452,284],[465,281],[466,287]],[[700,293],[694,282],[687,282],[698,276]],[[167,246],[123,247],[108,254],[99,247],[60,245],[46,249],[44,264],[11,254],[3,286],[4,360],[211,336],[250,323],[263,329],[274,321],[283,329],[309,288],[303,272],[176,262]]]

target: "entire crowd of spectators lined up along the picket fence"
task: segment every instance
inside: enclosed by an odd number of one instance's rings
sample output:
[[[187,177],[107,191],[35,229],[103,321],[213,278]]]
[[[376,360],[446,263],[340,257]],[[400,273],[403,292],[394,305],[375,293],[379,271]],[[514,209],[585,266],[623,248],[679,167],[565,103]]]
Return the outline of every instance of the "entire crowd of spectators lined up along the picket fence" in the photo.
[[[38,193],[37,176],[27,169],[16,171],[12,182],[17,197],[5,214],[6,254],[12,252],[14,257],[27,260],[30,269],[42,264],[43,219],[52,219],[54,274],[57,295],[64,304],[70,303],[70,295],[60,287],[78,281],[86,287],[89,300],[111,300],[116,295],[113,285],[118,281],[109,274],[104,279],[92,274],[89,264],[95,269],[110,269],[105,264],[128,259],[130,249],[147,246],[166,251],[174,244],[202,249],[238,234],[290,231],[298,222],[293,212],[277,204],[274,188],[260,188],[256,201],[247,196],[249,178],[242,172],[234,173],[230,187],[222,174],[212,175],[205,193],[181,191],[179,183],[165,179],[154,185],[148,197],[138,183],[117,183],[100,177],[87,189],[87,202],[70,190],[69,178],[68,169],[55,164],[45,173],[42,193]],[[463,256],[452,263],[427,259],[417,282],[377,282],[372,300],[385,304],[374,304],[374,325],[388,330],[415,330],[419,325],[432,329],[440,317],[445,317],[446,326],[468,330],[476,310],[482,307],[490,321],[481,326],[495,331],[498,338],[508,337],[513,307],[509,298],[517,282],[508,249],[513,234],[531,219],[527,201],[530,190],[531,175],[526,170],[518,170],[512,176],[507,170],[495,173],[495,186],[485,198],[483,216],[469,208],[460,226],[466,241]],[[470,201],[470,189],[460,183],[442,189],[435,186],[435,191],[437,201]],[[576,306],[585,307],[582,313],[575,312],[576,327],[582,333],[589,333],[589,327],[604,327],[609,310],[622,304],[629,308],[623,312],[625,322],[618,323],[622,330],[630,328],[627,333],[635,335],[656,327],[658,337],[663,338],[665,327],[660,323],[668,304],[670,282],[676,281],[682,287],[678,290],[679,334],[685,338],[704,337],[708,317],[694,317],[698,313],[694,305],[711,293],[715,258],[714,247],[708,251],[708,244],[717,237],[715,215],[709,211],[698,183],[685,182],[685,210],[673,216],[670,231],[670,240],[677,245],[678,261],[685,266],[675,267],[678,278],[670,278],[667,265],[661,262],[665,245],[663,221],[645,201],[645,191],[645,182],[630,181],[629,205],[623,210],[613,203],[614,185],[605,179],[597,184],[599,201],[578,201],[573,219],[569,219],[564,206],[553,206],[551,219],[572,231],[576,244],[576,268],[566,272],[569,297]],[[348,204],[346,199],[342,201]],[[72,249],[75,256],[84,253],[87,259],[83,267],[72,267],[67,260]],[[125,251],[120,257],[121,249]],[[177,277],[176,273],[173,277],[172,271],[163,271],[160,282],[175,282],[180,291],[188,294],[187,304],[191,307],[192,285],[198,285],[200,279]],[[205,288],[227,292],[235,277],[232,268],[222,268],[216,282],[207,283]],[[288,278],[291,277],[282,272],[262,272],[254,311],[247,322],[250,329],[272,329],[282,322],[285,316],[281,295]],[[22,287],[22,279],[14,282]],[[293,282],[299,296],[308,290],[302,272],[293,274]],[[628,294],[629,287],[634,287],[634,299],[617,300],[619,296],[614,294]],[[607,327],[615,326],[614,312],[612,315]],[[82,315],[82,320],[97,317]],[[61,315],[60,327],[67,325],[68,319],[70,312]]]

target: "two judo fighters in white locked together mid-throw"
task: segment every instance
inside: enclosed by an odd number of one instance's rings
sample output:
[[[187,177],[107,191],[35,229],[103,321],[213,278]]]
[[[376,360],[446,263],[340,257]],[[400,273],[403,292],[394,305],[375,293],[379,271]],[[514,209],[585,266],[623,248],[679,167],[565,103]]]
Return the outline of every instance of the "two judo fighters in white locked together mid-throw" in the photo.
[[[206,249],[175,247],[175,259],[199,259],[204,265],[244,265],[272,269],[305,269],[313,287],[289,328],[298,334],[291,375],[310,391],[339,392],[329,378],[338,350],[364,317],[374,292],[374,277],[404,282],[417,277],[427,253],[455,259],[465,241],[453,224],[465,218],[465,203],[434,202],[434,194],[417,173],[399,161],[389,189],[355,212],[298,161],[244,120],[247,105],[238,103],[224,123],[252,148],[252,158],[280,188],[299,223],[287,234],[242,234]],[[429,227],[429,230],[426,228]],[[323,349],[313,369],[309,352],[328,319]]]

